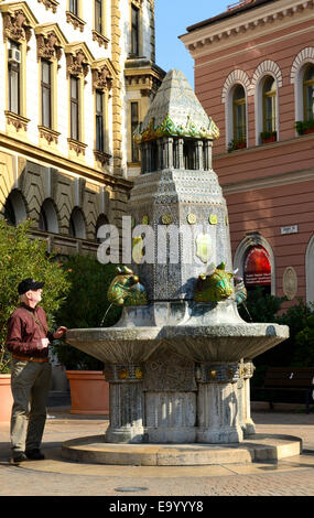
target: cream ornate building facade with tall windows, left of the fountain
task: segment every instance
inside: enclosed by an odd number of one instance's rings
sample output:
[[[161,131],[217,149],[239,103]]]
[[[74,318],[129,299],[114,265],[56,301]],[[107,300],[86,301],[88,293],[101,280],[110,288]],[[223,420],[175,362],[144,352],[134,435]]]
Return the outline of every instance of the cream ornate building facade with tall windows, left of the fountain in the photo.
[[[0,0],[0,215],[61,253],[118,227],[164,72],[154,0]]]

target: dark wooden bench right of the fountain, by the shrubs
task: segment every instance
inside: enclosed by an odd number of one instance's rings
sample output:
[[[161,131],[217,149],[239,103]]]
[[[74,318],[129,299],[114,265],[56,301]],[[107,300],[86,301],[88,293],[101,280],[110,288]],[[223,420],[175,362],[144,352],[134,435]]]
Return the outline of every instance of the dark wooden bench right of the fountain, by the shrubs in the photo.
[[[273,408],[274,400],[280,401],[283,392],[304,393],[306,413],[310,413],[310,402],[314,403],[314,367],[269,367],[263,387],[255,390],[266,392],[270,408]]]

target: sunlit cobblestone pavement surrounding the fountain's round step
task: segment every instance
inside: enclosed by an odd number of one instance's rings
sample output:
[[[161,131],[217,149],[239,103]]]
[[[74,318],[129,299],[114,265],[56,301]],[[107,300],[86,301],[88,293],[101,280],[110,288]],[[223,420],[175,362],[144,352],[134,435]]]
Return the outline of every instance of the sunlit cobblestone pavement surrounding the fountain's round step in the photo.
[[[53,413],[55,416],[53,417]],[[10,466],[9,425],[0,424],[0,496],[314,496],[314,413],[267,407],[252,411],[257,432],[296,435],[303,453],[273,462],[216,466],[104,466],[61,458],[67,439],[95,435],[104,419],[50,409],[45,461]]]

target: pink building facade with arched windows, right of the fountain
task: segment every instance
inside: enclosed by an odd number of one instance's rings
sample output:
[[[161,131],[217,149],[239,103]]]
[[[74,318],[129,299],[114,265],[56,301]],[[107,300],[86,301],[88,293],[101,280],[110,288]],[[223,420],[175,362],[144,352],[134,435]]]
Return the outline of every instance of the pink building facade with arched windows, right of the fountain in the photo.
[[[247,0],[181,40],[220,130],[235,268],[285,306],[314,301],[313,0]]]

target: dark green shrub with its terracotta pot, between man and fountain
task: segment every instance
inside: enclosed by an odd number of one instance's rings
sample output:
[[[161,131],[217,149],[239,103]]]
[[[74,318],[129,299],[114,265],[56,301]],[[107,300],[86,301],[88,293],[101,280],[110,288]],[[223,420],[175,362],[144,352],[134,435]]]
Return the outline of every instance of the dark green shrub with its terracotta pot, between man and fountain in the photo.
[[[109,309],[107,299],[116,268],[116,265],[101,265],[91,255],[68,257],[64,269],[72,287],[66,304],[56,315],[57,322],[67,328],[110,326],[118,322],[121,309],[113,305]],[[108,414],[109,384],[104,378],[104,364],[66,344],[66,336],[54,344],[53,352],[66,368],[71,413]]]

